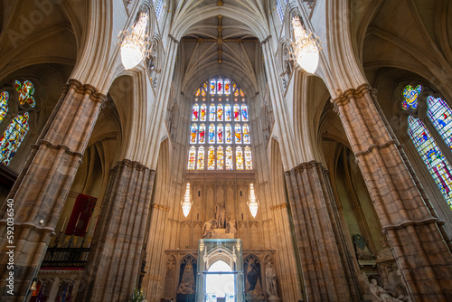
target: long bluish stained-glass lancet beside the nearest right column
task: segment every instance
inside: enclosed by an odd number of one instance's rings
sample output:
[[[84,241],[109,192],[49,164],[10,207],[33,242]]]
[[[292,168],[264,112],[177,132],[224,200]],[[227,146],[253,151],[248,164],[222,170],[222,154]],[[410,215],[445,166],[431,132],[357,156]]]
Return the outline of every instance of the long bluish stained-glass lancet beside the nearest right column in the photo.
[[[428,167],[439,190],[452,209],[452,167],[442,155],[427,127],[419,118],[408,118],[408,133],[418,149],[419,155]]]

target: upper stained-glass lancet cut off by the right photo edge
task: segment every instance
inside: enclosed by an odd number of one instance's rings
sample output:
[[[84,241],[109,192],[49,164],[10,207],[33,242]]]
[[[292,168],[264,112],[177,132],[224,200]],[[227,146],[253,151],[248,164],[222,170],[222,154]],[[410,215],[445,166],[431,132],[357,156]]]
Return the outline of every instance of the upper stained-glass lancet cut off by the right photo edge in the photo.
[[[433,126],[437,128],[439,135],[443,138],[449,149],[452,150],[452,110],[450,110],[446,102],[441,98],[435,99],[429,96],[427,103],[428,118],[430,118]]]

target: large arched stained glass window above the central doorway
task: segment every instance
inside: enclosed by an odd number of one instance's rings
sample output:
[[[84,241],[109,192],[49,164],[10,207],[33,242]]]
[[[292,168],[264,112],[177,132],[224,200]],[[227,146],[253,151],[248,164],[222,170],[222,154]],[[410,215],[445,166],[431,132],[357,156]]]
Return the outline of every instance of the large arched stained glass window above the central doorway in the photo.
[[[202,83],[193,98],[188,170],[252,170],[248,106],[231,79]]]

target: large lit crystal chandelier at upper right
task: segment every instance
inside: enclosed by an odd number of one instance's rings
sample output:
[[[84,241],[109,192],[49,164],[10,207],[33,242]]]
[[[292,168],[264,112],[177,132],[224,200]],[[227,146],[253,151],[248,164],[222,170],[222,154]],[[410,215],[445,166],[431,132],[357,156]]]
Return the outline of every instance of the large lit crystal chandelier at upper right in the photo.
[[[306,33],[298,17],[292,19],[292,26],[295,41],[291,44],[297,63],[305,71],[314,73],[318,65],[318,39],[313,38],[313,33]]]

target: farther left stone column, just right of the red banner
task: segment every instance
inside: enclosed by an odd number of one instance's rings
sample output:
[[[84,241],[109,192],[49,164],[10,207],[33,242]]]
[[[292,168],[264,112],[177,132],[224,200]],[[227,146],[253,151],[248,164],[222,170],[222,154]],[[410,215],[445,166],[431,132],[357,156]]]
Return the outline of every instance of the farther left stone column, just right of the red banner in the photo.
[[[137,287],[154,178],[127,159],[110,171],[77,301],[126,301]]]

